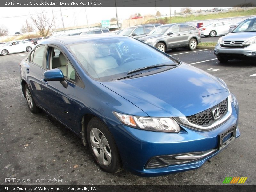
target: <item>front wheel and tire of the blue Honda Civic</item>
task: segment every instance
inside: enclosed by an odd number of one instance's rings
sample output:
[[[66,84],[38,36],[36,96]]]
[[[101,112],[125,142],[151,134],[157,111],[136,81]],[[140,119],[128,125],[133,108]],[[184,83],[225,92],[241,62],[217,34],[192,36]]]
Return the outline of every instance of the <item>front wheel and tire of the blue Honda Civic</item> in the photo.
[[[114,137],[107,125],[97,117],[93,117],[88,122],[87,140],[92,155],[100,165],[100,168],[109,173],[117,173],[122,170],[121,157],[116,147]],[[92,145],[94,145],[94,148],[92,148]],[[107,158],[107,154],[110,154],[110,160],[109,155]],[[99,156],[99,158],[96,155]]]

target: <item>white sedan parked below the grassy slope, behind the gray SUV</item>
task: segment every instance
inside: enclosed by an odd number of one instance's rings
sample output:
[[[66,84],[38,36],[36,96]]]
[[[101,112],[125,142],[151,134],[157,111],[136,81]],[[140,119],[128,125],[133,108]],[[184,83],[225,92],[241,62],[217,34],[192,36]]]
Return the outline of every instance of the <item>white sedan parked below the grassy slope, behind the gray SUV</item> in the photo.
[[[216,35],[226,35],[228,34],[229,26],[232,23],[229,22],[217,22],[217,23],[210,23],[203,27],[199,28],[200,35],[204,36],[211,36],[214,37]]]

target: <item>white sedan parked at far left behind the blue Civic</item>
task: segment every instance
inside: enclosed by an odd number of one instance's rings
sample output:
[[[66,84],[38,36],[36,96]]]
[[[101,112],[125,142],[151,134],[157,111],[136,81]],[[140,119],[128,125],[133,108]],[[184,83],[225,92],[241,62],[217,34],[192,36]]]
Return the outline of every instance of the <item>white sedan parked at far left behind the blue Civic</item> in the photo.
[[[9,41],[0,47],[1,55],[16,52],[30,52],[35,45],[30,41]]]

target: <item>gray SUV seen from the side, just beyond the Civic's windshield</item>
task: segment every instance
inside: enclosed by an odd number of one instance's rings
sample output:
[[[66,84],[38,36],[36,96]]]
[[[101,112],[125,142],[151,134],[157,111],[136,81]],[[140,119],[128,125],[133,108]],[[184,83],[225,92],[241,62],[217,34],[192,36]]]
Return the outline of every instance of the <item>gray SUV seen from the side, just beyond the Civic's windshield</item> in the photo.
[[[197,44],[201,42],[198,28],[188,23],[161,25],[152,30],[147,36],[138,39],[163,52],[181,47],[194,50]]]

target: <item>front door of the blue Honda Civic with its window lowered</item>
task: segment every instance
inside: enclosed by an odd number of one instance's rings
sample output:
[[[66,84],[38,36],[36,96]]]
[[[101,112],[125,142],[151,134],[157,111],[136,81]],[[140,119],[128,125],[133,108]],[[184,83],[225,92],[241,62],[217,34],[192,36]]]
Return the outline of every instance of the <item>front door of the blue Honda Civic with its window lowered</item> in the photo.
[[[47,48],[46,70],[58,68],[65,76],[67,87],[60,81],[45,81],[42,74],[45,109],[63,124],[71,129],[76,129],[74,109],[74,88],[76,86],[76,71],[63,51],[54,46]]]

